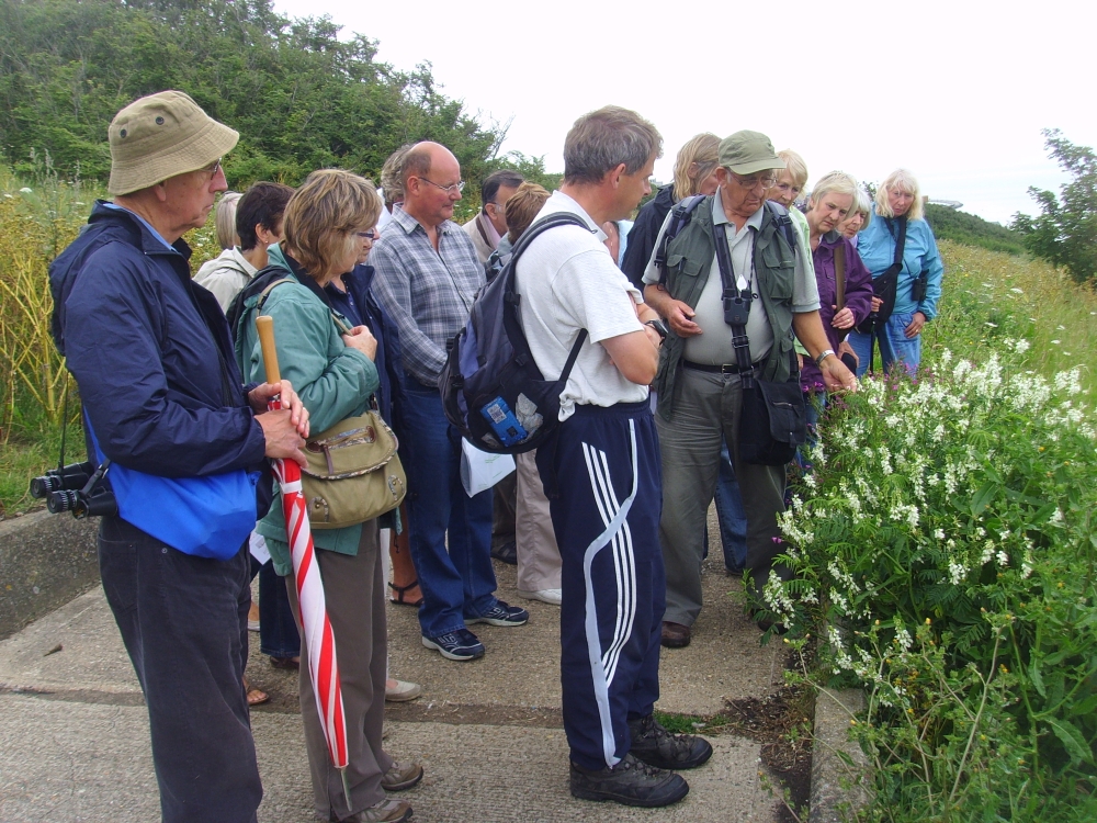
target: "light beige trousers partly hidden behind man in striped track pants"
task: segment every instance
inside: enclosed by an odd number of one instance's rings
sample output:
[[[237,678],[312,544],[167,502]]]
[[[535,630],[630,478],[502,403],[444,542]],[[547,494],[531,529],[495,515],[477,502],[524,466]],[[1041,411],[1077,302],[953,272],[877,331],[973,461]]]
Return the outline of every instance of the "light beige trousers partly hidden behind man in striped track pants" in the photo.
[[[542,591],[559,588],[559,546],[548,516],[538,474],[536,451],[516,454],[518,464],[518,505],[514,507],[514,534],[518,542],[518,589]]]

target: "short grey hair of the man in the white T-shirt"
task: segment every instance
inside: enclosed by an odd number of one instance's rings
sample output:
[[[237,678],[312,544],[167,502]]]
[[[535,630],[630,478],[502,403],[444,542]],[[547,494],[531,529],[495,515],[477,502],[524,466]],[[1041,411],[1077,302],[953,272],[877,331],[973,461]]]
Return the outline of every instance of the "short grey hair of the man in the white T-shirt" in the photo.
[[[663,136],[636,112],[607,105],[584,114],[564,140],[564,182],[598,183],[624,164],[635,174],[652,157],[663,156]]]

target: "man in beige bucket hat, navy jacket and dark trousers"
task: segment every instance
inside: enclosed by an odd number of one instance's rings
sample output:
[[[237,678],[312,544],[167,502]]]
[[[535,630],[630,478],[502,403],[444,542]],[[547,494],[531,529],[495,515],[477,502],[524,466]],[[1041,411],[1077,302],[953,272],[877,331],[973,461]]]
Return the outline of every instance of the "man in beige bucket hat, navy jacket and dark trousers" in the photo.
[[[182,236],[227,188],[239,135],[180,91],[129,104],[109,135],[114,202],[49,270],[89,459],[112,461],[103,589],[148,704],[163,820],[249,823],[248,534],[270,505],[265,458],[304,463],[308,415],[284,381],[244,391],[225,316],[190,277]],[[289,410],[267,412],[279,392]]]

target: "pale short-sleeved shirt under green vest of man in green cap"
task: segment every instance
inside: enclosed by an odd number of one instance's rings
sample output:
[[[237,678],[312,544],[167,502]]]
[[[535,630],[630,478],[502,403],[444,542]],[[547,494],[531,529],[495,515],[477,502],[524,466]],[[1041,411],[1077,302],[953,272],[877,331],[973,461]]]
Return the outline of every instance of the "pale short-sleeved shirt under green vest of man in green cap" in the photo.
[[[766,308],[758,296],[757,278],[751,279],[751,261],[754,259],[754,238],[758,229],[761,228],[762,211],[765,204],[750,215],[743,228],[736,230],[735,224],[727,219],[724,206],[720,198],[721,190],[716,190],[716,195],[712,199],[712,222],[726,225],[727,248],[731,252],[732,269],[739,289],[746,288],[750,283],[750,290],[755,300],[750,305],[750,315],[747,318],[747,337],[750,339],[750,360],[759,362],[773,348],[773,329],[769,325],[766,316]],[[659,236],[655,240],[655,248],[658,249],[663,243],[663,235],[667,230],[671,215],[667,215],[659,229]],[[795,233],[796,239],[796,263],[793,274],[792,286],[792,311],[795,314],[804,312],[816,312],[819,307],[818,284],[815,282],[814,272],[807,268],[805,260],[811,260],[806,247],[803,244],[800,233]],[[645,283],[658,283],[659,270],[655,266],[655,255],[647,263],[644,271]],[[712,258],[712,267],[709,269],[709,279],[701,290],[698,298],[693,322],[701,327],[701,334],[694,337],[687,337],[682,350],[682,357],[694,363],[709,365],[721,365],[723,363],[735,363],[735,350],[732,347],[732,327],[724,323],[723,283],[720,279],[720,262],[716,257]]]

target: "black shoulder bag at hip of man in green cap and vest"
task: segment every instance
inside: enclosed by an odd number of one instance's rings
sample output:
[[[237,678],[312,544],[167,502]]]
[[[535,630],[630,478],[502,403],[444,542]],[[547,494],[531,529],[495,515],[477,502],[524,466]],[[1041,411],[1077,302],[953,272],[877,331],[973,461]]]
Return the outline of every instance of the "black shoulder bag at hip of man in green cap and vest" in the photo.
[[[751,381],[743,387],[739,458],[755,465],[784,465],[807,440],[807,409],[800,373],[785,383]]]

